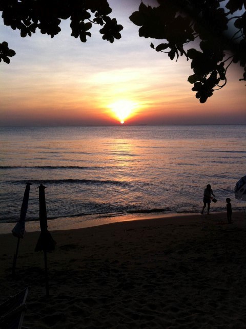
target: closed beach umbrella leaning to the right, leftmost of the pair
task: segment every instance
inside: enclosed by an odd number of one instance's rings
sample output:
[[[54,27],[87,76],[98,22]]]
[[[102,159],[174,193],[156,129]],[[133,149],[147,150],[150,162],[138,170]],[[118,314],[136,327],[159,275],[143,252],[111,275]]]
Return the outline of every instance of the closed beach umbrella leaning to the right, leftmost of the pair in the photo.
[[[18,238],[16,252],[14,254],[14,259],[13,259],[12,275],[14,275],[14,273],[15,273],[15,266],[16,266],[18,249],[19,249],[19,239],[20,238],[23,239],[24,234],[25,234],[25,220],[26,220],[26,214],[27,214],[27,208],[28,208],[30,185],[32,185],[31,183],[26,183],[26,184],[27,184],[27,186],[26,186],[24,196],[23,196],[22,208],[20,208],[20,217],[19,217],[17,224],[12,229],[13,235]]]

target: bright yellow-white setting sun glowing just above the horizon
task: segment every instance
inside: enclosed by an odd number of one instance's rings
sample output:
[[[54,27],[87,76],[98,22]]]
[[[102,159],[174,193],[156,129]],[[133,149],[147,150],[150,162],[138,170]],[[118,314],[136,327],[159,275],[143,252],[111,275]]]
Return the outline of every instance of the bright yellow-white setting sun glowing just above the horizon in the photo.
[[[136,104],[129,100],[118,100],[110,104],[109,108],[111,109],[113,116],[119,120],[121,124],[124,124],[126,119],[134,114]]]

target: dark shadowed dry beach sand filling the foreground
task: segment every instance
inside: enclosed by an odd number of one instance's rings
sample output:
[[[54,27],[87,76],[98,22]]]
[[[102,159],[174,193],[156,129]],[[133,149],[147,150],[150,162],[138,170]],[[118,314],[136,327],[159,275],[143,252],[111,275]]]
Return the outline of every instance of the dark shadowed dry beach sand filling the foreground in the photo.
[[[246,218],[194,214],[52,231],[48,254],[39,232],[20,242],[1,236],[0,301],[30,286],[29,328],[245,328]]]

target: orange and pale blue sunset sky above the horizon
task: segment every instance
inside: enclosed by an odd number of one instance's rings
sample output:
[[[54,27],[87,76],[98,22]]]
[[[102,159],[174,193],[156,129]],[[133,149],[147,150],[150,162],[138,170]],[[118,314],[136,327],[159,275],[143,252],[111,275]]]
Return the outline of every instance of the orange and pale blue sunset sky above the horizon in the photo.
[[[227,85],[200,104],[187,81],[191,61],[171,61],[150,48],[158,40],[138,36],[128,17],[140,0],[109,3],[110,16],[124,26],[112,44],[101,38],[99,26],[86,43],[71,37],[69,19],[54,38],[39,30],[22,38],[1,18],[1,42],[16,55],[0,63],[0,125],[246,123],[239,68],[231,67]]]

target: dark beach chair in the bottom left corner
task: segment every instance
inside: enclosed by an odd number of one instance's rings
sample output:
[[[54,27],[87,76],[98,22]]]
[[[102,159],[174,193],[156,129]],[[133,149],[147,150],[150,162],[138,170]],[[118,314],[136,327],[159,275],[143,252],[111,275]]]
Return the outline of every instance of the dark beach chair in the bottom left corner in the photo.
[[[28,288],[0,304],[1,329],[24,329],[22,322],[27,310],[27,294]]]

